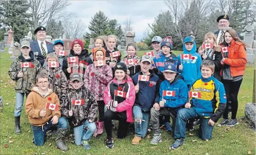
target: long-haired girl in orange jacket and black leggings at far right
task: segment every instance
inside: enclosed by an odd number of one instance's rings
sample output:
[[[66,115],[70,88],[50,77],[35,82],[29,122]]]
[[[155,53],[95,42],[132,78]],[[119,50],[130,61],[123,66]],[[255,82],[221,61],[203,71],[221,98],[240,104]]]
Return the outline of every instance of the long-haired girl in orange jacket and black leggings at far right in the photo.
[[[222,54],[223,59],[220,60],[223,68],[220,71],[222,76],[222,83],[224,84],[227,101],[231,101],[231,120],[228,120],[229,102],[227,102],[225,112],[223,114],[223,120],[220,124],[227,127],[234,127],[238,124],[237,110],[238,110],[238,91],[243,80],[243,74],[245,73],[246,60],[246,44],[238,38],[235,30],[226,30],[224,34],[224,42]],[[228,51],[228,52],[226,52]]]

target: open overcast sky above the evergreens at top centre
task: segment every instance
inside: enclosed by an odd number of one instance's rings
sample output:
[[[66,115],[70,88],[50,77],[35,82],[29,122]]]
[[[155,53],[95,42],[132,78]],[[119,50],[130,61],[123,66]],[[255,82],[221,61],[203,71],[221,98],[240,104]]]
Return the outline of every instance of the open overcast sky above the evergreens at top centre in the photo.
[[[143,32],[148,23],[153,23],[155,17],[168,10],[164,1],[69,1],[67,10],[84,21],[86,27],[98,11],[103,11],[109,19],[116,19],[121,25],[125,19],[132,19],[135,41],[143,38]],[[86,28],[88,31],[88,28]]]

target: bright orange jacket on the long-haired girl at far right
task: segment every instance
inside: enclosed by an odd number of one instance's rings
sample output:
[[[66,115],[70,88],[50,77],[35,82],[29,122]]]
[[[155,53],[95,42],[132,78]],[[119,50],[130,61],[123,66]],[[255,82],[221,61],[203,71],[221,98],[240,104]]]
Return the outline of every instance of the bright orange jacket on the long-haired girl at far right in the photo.
[[[225,64],[230,66],[231,76],[239,76],[245,73],[247,63],[245,46],[241,42],[231,41],[229,58],[225,58]],[[222,75],[222,70],[220,71]]]

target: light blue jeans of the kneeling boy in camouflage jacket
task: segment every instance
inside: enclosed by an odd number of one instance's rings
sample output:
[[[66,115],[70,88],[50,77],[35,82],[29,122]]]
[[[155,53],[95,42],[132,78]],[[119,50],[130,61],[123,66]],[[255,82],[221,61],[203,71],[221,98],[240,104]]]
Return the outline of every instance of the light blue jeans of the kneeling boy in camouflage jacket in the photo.
[[[86,130],[85,130],[85,129]],[[84,125],[80,125],[74,128],[74,142],[76,145],[81,145],[82,140],[90,140],[92,134],[96,130],[96,124],[89,123],[88,120],[84,122]]]

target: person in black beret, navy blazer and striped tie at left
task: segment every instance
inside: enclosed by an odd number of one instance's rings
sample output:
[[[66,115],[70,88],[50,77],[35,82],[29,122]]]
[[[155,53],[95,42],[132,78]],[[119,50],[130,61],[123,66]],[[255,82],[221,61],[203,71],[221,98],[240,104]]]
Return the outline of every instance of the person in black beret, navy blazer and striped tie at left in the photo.
[[[34,31],[37,36],[37,40],[30,42],[31,51],[36,54],[37,60],[43,67],[46,59],[46,55],[53,52],[53,44],[46,41],[46,28],[44,26],[37,27]]]

